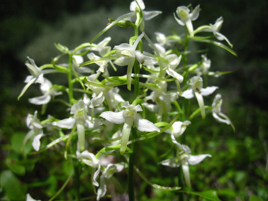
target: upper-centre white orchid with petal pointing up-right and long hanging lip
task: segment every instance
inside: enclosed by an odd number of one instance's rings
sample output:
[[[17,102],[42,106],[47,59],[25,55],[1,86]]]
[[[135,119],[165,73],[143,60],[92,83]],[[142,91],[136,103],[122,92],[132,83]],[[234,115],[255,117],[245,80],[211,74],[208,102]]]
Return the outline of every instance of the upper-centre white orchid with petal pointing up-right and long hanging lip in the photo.
[[[142,54],[139,50],[136,50],[139,41],[144,36],[144,32],[136,39],[134,44],[131,46],[127,43],[122,43],[114,47],[117,49],[116,54],[120,55],[114,63],[119,66],[128,66],[127,68],[127,88],[131,90],[131,72],[135,62],[135,58],[139,61],[139,63],[143,65],[154,65],[158,61],[150,56],[146,56]]]

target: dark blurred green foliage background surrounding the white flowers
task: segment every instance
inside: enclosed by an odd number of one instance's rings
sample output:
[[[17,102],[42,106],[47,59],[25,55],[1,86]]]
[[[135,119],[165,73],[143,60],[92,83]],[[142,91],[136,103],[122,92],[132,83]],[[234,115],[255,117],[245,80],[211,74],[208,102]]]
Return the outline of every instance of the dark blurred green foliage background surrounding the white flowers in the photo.
[[[188,5],[189,2],[179,3],[145,1],[146,10],[159,9],[163,12],[162,17],[148,25],[148,35],[153,36],[156,27],[163,33],[171,29],[178,31],[172,12],[177,6]],[[263,33],[264,27],[268,26],[265,20],[268,3],[229,0],[192,1],[192,4],[201,4],[201,24],[214,23],[211,19],[223,16],[223,34],[233,42],[238,53],[238,58],[217,48],[208,53],[212,70],[233,70],[232,74],[221,77],[217,84],[224,86],[224,90],[220,91],[223,94],[223,111],[232,120],[236,132],[233,133],[231,127],[216,123],[210,116],[205,121],[196,119],[192,122],[195,126],[190,126],[184,134],[187,141],[192,142],[191,150],[194,154],[209,153],[213,156],[198,167],[190,167],[193,188],[196,191],[215,189],[222,200],[267,200],[268,59],[265,47],[268,43]],[[32,151],[29,143],[21,150],[22,139],[28,132],[25,118],[36,109],[36,106],[30,107],[27,97],[35,96],[38,91],[37,87],[31,88],[17,102],[28,73],[24,65],[26,56],[33,57],[37,64],[46,63],[55,55],[55,42],[70,48],[88,42],[105,26],[107,17],[116,18],[126,13],[128,7],[129,2],[125,1],[6,1],[2,5],[0,37],[4,40],[0,41],[0,84],[5,87],[0,90],[1,200],[24,200],[27,192],[33,197],[42,195],[46,200],[56,193],[71,172],[70,160],[65,160],[60,154],[48,152],[46,155],[27,156]],[[120,28],[113,28],[104,36],[108,35],[116,39],[117,44],[129,38],[125,32],[120,32]],[[202,44],[200,48],[205,49],[206,45]],[[163,146],[156,147],[157,140],[162,139]],[[143,143],[146,146],[137,149],[137,156],[141,156],[137,166],[142,173],[160,185],[177,185],[178,179],[173,177],[177,170],[158,164],[163,154],[169,154],[166,147],[172,144],[170,139],[161,136]],[[171,200],[178,196],[177,192],[152,189],[138,176],[135,179],[137,186],[141,184],[138,200]],[[71,188],[67,185],[59,198],[70,199],[71,192],[68,190]],[[84,179],[81,194],[91,196],[89,192],[92,191],[90,178]],[[202,200],[189,195],[190,199]]]

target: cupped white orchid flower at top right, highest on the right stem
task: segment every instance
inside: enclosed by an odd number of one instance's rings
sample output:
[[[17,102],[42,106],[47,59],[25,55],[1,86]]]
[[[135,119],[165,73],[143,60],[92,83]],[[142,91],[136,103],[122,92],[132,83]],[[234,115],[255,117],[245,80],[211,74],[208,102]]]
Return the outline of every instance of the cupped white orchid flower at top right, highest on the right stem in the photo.
[[[187,27],[188,29],[188,32],[189,32],[189,35],[190,37],[194,37],[194,28],[193,28],[193,24],[192,24],[192,21],[196,20],[199,16],[199,12],[200,12],[200,6],[198,5],[192,13],[190,13],[190,9],[188,9],[187,7],[185,6],[181,6],[181,7],[177,7],[177,10],[176,10],[176,16],[175,16],[175,13],[174,13],[174,18],[175,20],[177,21],[178,24],[182,25],[182,26],[185,26]]]

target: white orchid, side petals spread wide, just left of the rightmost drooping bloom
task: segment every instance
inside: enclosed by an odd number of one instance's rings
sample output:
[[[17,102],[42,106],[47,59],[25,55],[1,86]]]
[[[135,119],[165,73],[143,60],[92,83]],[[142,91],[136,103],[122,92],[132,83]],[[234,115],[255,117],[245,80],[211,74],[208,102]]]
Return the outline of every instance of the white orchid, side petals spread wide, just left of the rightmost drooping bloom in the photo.
[[[190,79],[190,89],[185,90],[181,96],[190,99],[193,98],[194,95],[197,98],[197,102],[201,111],[201,116],[204,119],[206,117],[206,112],[205,112],[205,105],[204,105],[204,99],[203,96],[210,95],[213,93],[218,86],[208,86],[206,88],[203,88],[203,79],[199,75],[194,76]]]

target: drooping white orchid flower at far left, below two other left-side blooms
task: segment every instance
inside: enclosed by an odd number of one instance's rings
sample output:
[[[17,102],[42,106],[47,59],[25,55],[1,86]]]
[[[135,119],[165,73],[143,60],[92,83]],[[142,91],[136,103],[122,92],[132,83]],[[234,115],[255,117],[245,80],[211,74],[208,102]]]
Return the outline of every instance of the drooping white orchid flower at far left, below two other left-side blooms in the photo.
[[[40,139],[45,135],[43,133],[43,126],[41,125],[40,120],[37,118],[37,111],[35,111],[34,115],[29,114],[27,116],[26,125],[31,130],[25,136],[23,146],[33,135],[36,135],[33,139],[32,145],[34,150],[39,151],[41,145]]]

